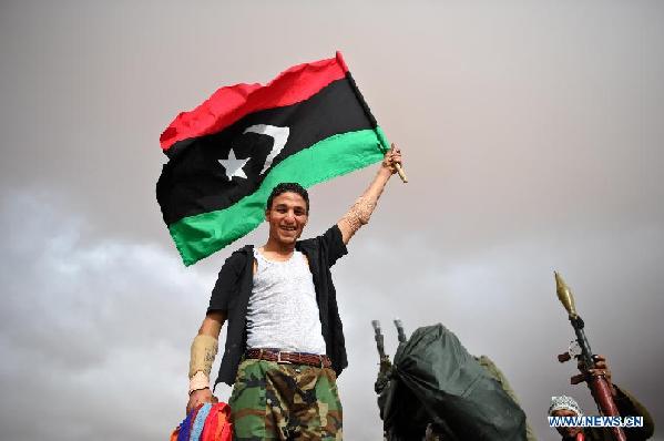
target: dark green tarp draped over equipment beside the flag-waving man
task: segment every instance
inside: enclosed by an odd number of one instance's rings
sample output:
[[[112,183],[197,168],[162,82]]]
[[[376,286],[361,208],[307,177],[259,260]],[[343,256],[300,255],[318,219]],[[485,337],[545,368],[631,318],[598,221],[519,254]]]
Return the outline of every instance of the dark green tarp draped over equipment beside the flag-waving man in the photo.
[[[390,441],[421,440],[427,424],[448,440],[525,440],[525,413],[442,325],[399,345],[379,398]]]

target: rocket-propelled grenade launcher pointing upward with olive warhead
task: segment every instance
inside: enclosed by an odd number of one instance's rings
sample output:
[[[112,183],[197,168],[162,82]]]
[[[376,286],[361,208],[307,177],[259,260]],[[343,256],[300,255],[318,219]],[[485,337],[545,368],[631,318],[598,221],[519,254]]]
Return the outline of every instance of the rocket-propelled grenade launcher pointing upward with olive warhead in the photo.
[[[588,381],[588,387],[590,388],[593,399],[597,404],[600,413],[605,417],[619,417],[620,413],[617,411],[615,402],[613,401],[611,386],[606,381],[606,378],[604,376],[591,376],[588,371],[589,369],[594,368],[595,362],[593,360],[593,352],[590,349],[590,343],[588,341],[588,338],[585,337],[585,331],[583,330],[585,324],[576,312],[576,306],[574,305],[574,296],[572,296],[570,287],[565,284],[560,274],[553,271],[553,275],[555,276],[555,291],[558,294],[558,298],[568,311],[570,322],[572,324],[572,327],[574,328],[574,334],[576,335],[575,343],[579,346],[578,351],[573,351],[572,346],[570,346],[570,351],[558,356],[558,360],[560,362],[565,362],[570,360],[572,356],[574,358],[580,359],[583,365],[584,372],[581,375],[581,377],[572,377],[572,384],[576,384],[583,380]],[[574,341],[572,343],[574,343]],[[616,441],[627,440],[627,438],[625,437],[625,432],[621,428],[611,428],[611,434]]]

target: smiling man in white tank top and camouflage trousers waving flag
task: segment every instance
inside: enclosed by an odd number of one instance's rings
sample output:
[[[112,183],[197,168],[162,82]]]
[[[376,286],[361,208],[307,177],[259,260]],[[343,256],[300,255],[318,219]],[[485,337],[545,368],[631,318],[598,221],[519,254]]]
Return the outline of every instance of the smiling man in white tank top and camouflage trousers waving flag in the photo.
[[[227,319],[216,382],[234,383],[235,439],[341,439],[336,376],[347,359],[329,268],[368,223],[400,163],[392,145],[348,213],[313,239],[297,240],[308,221],[307,192],[298,184],[274,188],[265,209],[267,243],[235,252],[219,271],[192,343],[187,411],[212,400],[208,376]]]

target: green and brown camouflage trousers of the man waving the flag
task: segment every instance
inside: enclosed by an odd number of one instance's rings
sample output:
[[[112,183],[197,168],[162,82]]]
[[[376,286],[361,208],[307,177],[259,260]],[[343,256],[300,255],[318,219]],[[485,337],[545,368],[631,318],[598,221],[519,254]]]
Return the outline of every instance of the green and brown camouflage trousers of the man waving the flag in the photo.
[[[331,369],[244,360],[228,402],[234,440],[341,440]]]

